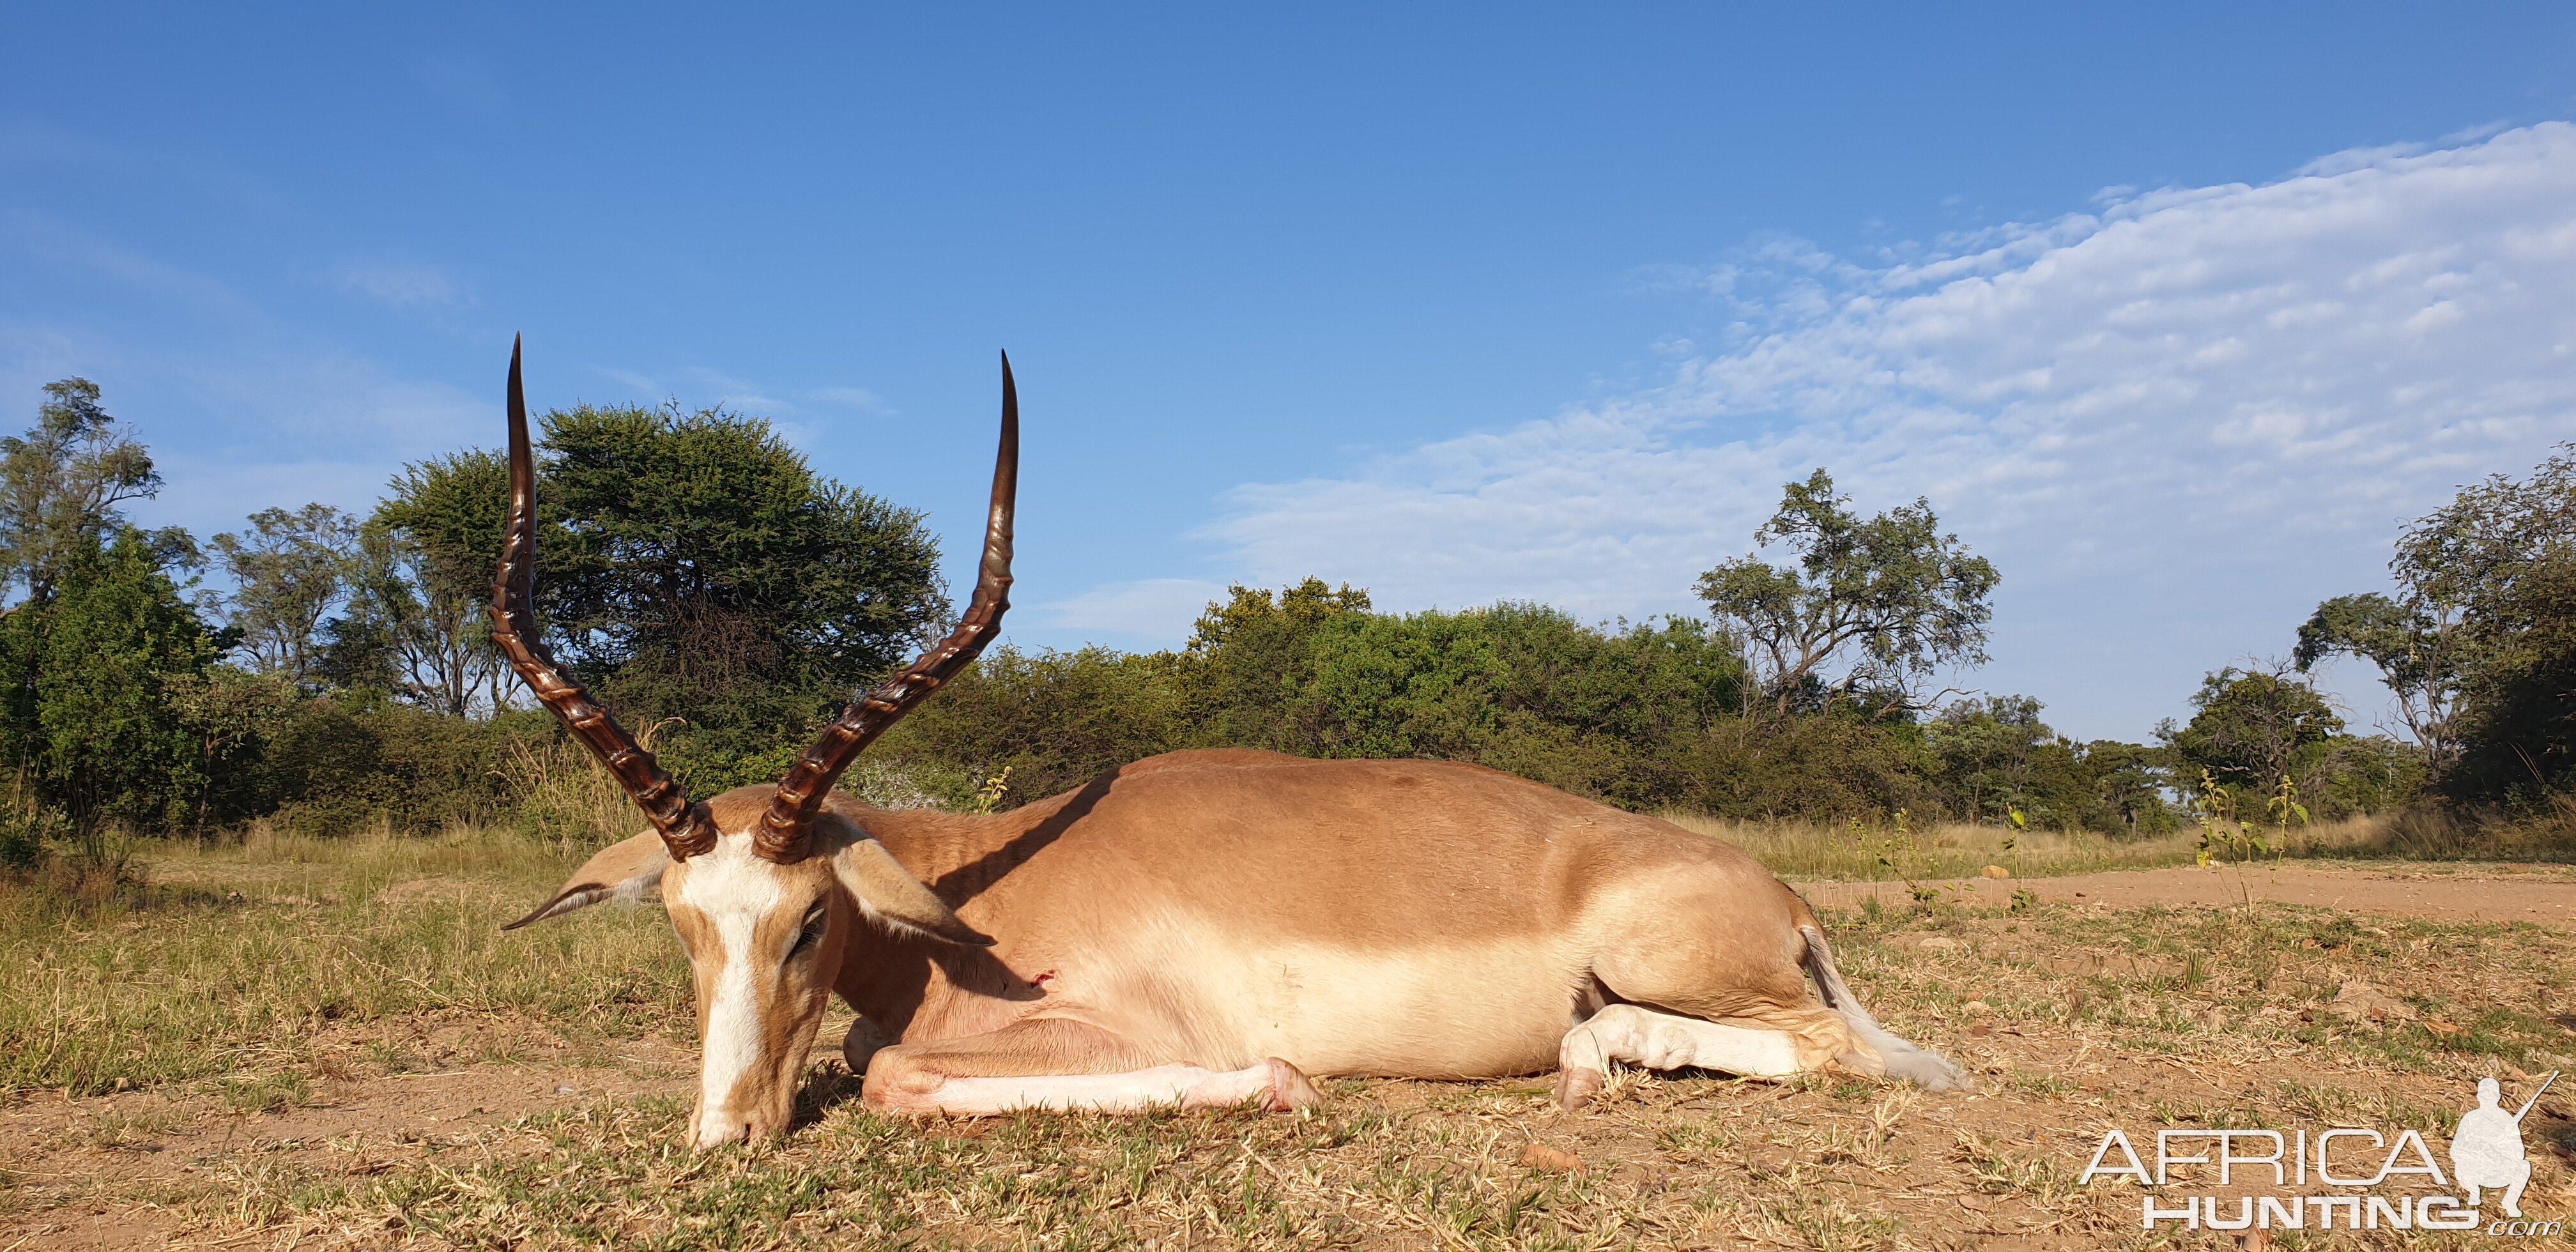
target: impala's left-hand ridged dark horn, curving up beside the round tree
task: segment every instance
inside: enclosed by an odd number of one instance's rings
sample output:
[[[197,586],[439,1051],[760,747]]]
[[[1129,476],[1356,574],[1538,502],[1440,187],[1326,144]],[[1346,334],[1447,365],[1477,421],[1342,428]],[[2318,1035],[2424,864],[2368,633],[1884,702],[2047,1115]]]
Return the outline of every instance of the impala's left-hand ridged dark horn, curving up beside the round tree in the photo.
[[[608,716],[580,683],[564,678],[536,639],[536,459],[528,451],[528,399],[518,389],[518,340],[510,340],[510,528],[500,544],[500,569],[492,572],[492,644],[510,659],[538,703],[564,719],[644,817],[662,832],[672,860],[688,860],[716,848],[716,822],[703,804],[690,804],[652,752],[636,745],[618,719]]]

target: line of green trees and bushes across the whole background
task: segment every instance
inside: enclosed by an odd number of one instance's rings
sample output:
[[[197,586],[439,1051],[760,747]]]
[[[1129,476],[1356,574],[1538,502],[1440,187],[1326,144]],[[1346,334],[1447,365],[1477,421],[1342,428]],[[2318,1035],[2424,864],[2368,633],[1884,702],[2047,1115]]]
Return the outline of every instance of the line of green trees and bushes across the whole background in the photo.
[[[126,520],[162,479],[93,381],[44,397],[36,428],[0,441],[0,595],[15,598],[0,765],[18,796],[0,860],[108,824],[435,827],[507,809],[502,757],[554,729],[518,716],[484,636],[497,453],[410,464],[366,515],[263,507],[198,544]],[[775,778],[945,623],[922,515],[817,474],[757,417],[582,404],[541,433],[549,644],[659,729],[690,788]],[[992,652],[853,786],[1018,804],[1151,752],[1244,745],[1479,760],[1728,817],[2154,832],[2200,786],[2280,781],[2329,814],[2427,786],[2548,804],[2576,742],[2571,538],[2576,453],[2561,451],[2411,523],[2396,595],[2326,600],[2287,665],[2208,675],[2154,745],[2074,742],[2035,698],[1932,688],[1986,662],[2002,574],[1927,500],[1865,518],[1816,469],[1783,487],[1757,551],[1700,574],[1705,621],[1378,613],[1314,577],[1234,587],[1180,649]],[[2347,732],[2306,680],[2334,654],[2378,667],[2414,745]]]

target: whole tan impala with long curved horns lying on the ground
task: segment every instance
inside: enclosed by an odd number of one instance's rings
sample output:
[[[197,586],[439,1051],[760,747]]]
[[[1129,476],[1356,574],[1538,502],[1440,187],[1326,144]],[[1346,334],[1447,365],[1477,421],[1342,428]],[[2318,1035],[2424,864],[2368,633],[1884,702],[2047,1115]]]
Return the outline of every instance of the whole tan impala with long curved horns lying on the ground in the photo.
[[[659,891],[706,1041],[696,1144],[788,1126],[835,992],[863,1018],[842,1043],[863,1100],[909,1113],[1285,1110],[1319,1100],[1309,1074],[1551,1064],[1579,1108],[1613,1061],[1958,1082],[1860,1007],[1816,915],[1752,858],[1507,773],[1218,750],[1005,814],[835,793],[876,734],[999,631],[1018,461],[1005,356],[963,621],[775,786],[690,801],[536,636],[536,469],[510,350],[492,639],[652,822],[510,927]]]

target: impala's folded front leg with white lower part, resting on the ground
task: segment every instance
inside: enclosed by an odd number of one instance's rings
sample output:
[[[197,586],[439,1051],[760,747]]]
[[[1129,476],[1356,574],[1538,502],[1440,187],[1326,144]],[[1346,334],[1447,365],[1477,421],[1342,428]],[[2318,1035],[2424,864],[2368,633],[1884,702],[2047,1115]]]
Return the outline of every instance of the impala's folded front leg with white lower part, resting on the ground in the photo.
[[[1306,1074],[1275,1056],[1244,1069],[1157,1061],[1097,1025],[1028,1018],[984,1036],[884,1048],[868,1061],[863,1097],[889,1113],[958,1118],[1023,1108],[1144,1113],[1252,1100],[1267,1110],[1321,1103]]]

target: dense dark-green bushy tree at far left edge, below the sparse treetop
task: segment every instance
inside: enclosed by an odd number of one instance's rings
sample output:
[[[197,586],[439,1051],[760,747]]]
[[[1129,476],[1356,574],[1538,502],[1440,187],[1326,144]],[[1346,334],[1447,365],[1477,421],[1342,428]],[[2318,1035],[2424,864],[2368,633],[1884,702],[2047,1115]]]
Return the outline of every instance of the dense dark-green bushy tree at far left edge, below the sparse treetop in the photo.
[[[49,600],[0,621],[0,757],[82,837],[108,822],[185,827],[209,778],[173,696],[214,654],[152,536],[93,536],[54,572]]]

